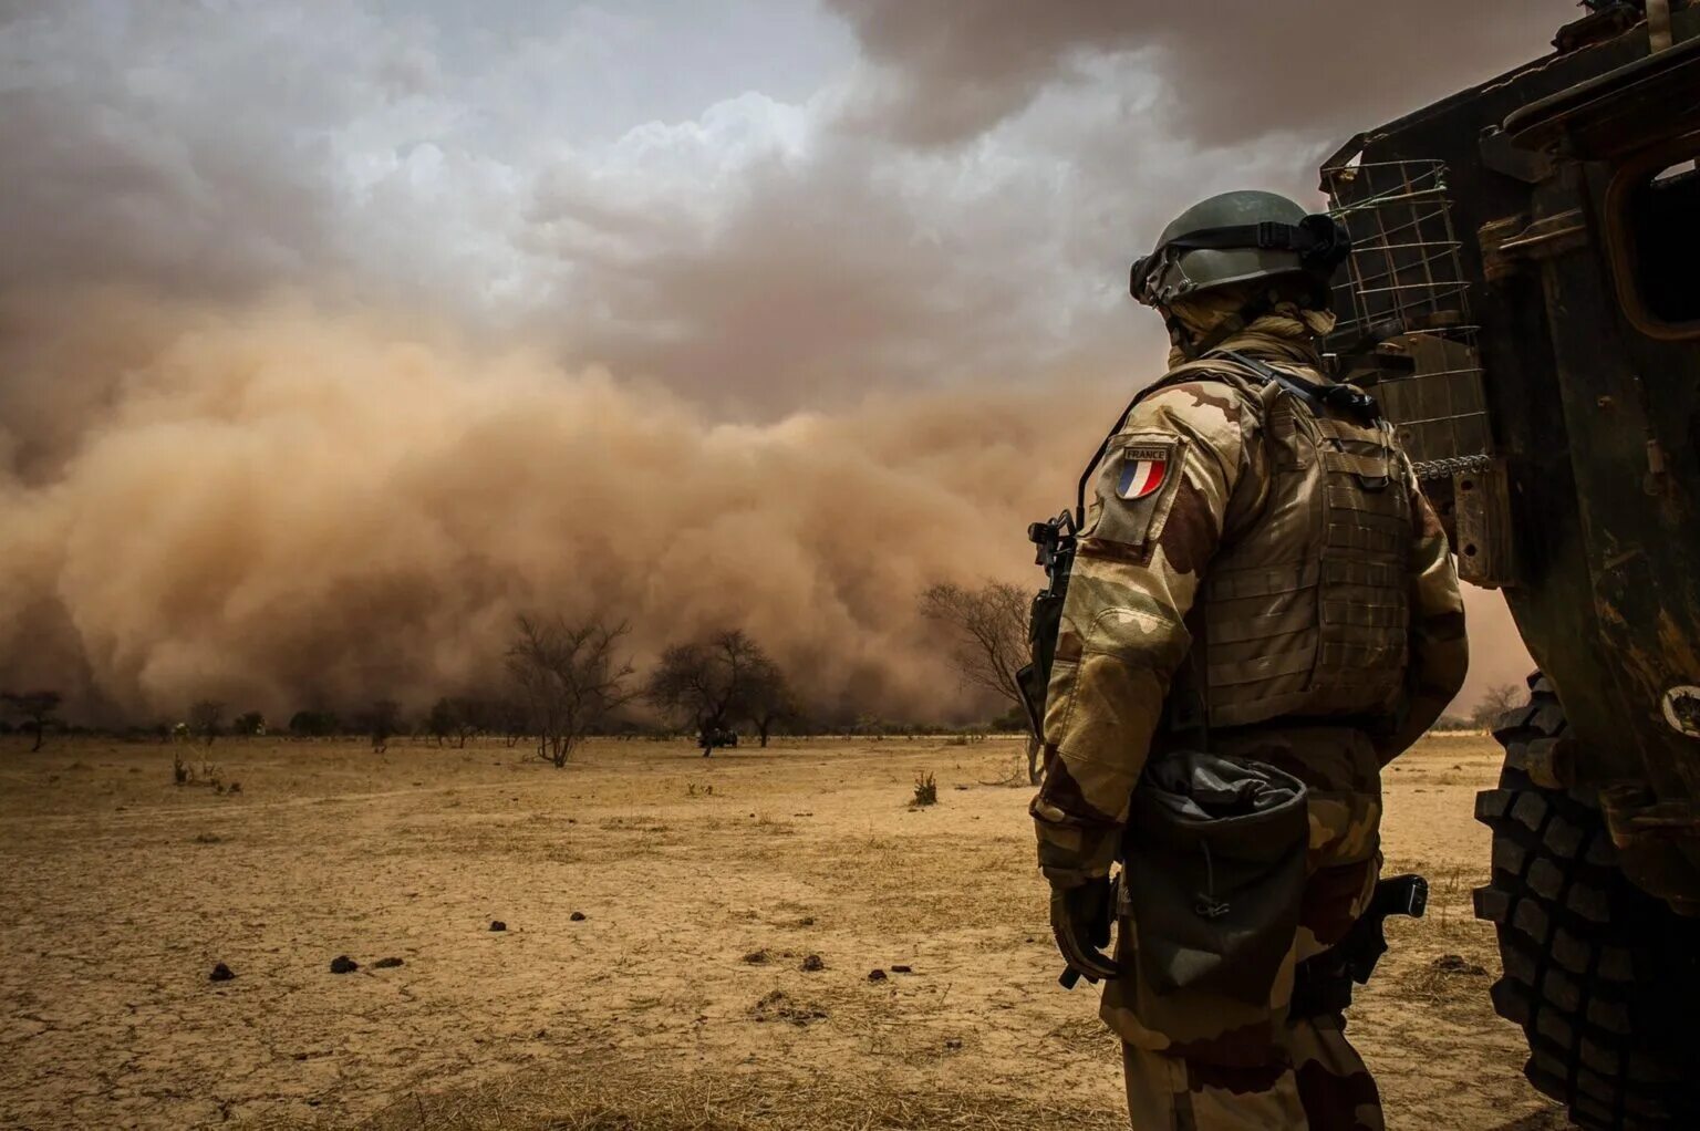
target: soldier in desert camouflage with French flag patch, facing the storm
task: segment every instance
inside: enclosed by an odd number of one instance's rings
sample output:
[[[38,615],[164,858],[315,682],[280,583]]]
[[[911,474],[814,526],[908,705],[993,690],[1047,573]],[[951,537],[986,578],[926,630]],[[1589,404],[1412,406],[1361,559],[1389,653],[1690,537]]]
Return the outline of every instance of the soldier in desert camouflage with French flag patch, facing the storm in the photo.
[[[1268,192],[1163,231],[1132,291],[1171,369],[1081,481],[1054,636],[1035,604],[1039,862],[1069,968],[1107,980],[1141,1129],[1382,1128],[1331,947],[1375,891],[1380,769],[1467,645],[1392,427],[1324,376],[1346,252]]]

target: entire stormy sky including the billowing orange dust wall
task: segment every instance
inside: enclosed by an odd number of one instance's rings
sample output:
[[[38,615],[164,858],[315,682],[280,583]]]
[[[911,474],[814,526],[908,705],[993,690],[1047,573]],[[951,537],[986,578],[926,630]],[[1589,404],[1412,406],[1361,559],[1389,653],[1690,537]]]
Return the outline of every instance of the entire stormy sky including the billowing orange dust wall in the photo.
[[[1326,20],[1244,7],[750,9],[634,77],[699,17],[0,3],[0,685],[416,702],[544,605],[641,653],[745,624],[826,709],[981,709],[913,594],[1034,580],[1159,364],[1151,231],[1567,14],[1340,5],[1319,70]],[[782,54],[824,70],[748,70]]]

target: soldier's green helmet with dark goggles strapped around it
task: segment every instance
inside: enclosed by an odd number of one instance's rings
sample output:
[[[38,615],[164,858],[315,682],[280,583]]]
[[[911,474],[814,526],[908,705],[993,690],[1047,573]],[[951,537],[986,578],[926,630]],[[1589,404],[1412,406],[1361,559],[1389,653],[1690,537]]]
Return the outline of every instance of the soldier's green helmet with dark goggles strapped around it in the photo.
[[[1175,218],[1134,264],[1130,291],[1146,306],[1241,282],[1270,281],[1307,306],[1328,306],[1334,270],[1352,253],[1346,230],[1275,192],[1212,196]]]

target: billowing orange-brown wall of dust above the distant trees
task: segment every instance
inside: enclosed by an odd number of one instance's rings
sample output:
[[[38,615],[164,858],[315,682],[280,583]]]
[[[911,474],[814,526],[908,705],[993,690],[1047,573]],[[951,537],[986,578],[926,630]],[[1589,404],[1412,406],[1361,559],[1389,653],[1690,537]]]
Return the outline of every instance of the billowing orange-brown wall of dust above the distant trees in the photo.
[[[0,682],[129,718],[418,706],[486,679],[529,609],[631,619],[641,651],[736,624],[828,711],[949,716],[964,696],[915,597],[1025,580],[1025,522],[1085,442],[1056,386],[726,423],[304,301],[124,310],[129,340],[90,313],[46,350],[100,369],[56,374],[76,418],[34,406],[3,488]]]

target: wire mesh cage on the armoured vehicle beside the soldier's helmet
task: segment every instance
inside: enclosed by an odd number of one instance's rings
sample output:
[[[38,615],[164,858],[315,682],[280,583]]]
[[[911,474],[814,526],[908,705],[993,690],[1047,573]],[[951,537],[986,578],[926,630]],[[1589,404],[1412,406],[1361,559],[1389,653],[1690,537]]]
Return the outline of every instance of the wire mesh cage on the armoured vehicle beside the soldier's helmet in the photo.
[[[1374,359],[1382,408],[1420,476],[1482,466],[1493,435],[1445,163],[1343,162],[1323,185],[1352,233],[1329,349]]]

